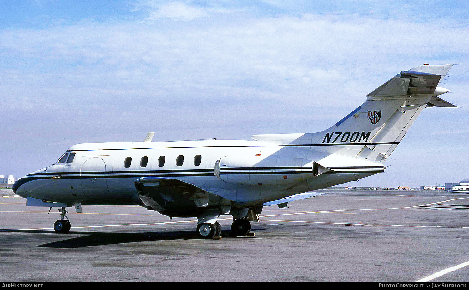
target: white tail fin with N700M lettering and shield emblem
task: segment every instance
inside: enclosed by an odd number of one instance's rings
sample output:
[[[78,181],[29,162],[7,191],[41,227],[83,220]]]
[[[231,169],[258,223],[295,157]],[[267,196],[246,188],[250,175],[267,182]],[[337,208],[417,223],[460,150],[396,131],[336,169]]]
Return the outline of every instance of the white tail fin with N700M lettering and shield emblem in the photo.
[[[254,135],[252,139],[310,145],[325,152],[384,163],[425,107],[456,107],[437,95],[452,64],[422,65],[401,71],[367,94],[367,100],[329,129],[318,133]]]

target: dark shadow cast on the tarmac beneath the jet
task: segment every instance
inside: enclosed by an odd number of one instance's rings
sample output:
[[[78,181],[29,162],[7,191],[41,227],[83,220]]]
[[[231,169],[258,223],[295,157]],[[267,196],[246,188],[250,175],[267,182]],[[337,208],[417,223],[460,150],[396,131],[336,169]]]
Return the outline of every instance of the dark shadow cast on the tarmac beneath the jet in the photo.
[[[16,230],[16,229],[0,229],[1,232],[16,232],[16,233],[42,233],[42,234],[57,234],[54,231],[44,230]],[[222,231],[221,236],[230,236],[230,231]],[[145,233],[101,233],[101,232],[74,232],[71,231],[67,234],[57,234],[57,236],[67,235],[84,235],[75,238],[65,239],[58,242],[45,243],[37,247],[44,248],[83,248],[90,246],[100,246],[119,243],[135,243],[147,241],[161,241],[161,240],[179,240],[179,239],[197,239],[200,238],[195,231],[171,231],[171,232],[145,232]]]

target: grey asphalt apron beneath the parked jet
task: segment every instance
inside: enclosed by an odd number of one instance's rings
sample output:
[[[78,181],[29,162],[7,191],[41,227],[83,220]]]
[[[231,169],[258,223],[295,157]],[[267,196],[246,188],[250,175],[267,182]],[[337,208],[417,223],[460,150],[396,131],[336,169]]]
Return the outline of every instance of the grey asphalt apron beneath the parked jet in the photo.
[[[11,195],[0,189],[0,196]],[[135,205],[57,208],[0,197],[0,280],[415,282],[469,261],[469,195],[429,191],[323,190],[265,207],[255,236],[201,240],[195,219],[170,220]],[[431,278],[467,282],[469,266]]]

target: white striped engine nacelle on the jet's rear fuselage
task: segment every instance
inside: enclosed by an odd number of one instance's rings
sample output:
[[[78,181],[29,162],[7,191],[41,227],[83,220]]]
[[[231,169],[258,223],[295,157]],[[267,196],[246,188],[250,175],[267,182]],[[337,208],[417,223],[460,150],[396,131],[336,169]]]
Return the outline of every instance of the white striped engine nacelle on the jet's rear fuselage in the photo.
[[[244,185],[274,186],[285,185],[309,179],[315,175],[311,160],[284,157],[281,155],[264,156],[225,156],[215,163],[215,176],[230,183]]]

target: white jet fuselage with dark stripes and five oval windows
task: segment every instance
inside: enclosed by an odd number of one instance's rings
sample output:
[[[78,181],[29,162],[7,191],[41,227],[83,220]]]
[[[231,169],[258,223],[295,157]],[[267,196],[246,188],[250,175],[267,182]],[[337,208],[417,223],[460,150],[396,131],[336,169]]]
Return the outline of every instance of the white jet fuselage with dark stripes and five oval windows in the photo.
[[[73,204],[140,204],[134,181],[149,176],[178,179],[218,196],[252,206],[265,201],[358,180],[384,170],[381,164],[310,149],[259,141],[210,140],[78,144],[52,166],[26,175],[15,185],[23,197]],[[64,154],[64,156],[65,156]],[[164,161],[163,161],[164,159]],[[227,164],[215,165],[221,159]],[[347,159],[347,158],[346,158]],[[334,169],[313,176],[312,162]],[[159,212],[197,215],[183,192],[159,196]],[[162,201],[165,202],[162,202]]]

